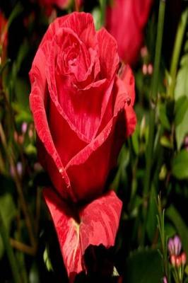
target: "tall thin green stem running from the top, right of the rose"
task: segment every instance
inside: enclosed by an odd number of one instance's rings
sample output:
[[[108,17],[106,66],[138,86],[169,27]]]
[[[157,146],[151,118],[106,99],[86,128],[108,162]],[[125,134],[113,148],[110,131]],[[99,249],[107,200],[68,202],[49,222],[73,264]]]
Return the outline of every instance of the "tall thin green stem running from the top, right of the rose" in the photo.
[[[158,30],[157,30],[157,40],[155,48],[155,62],[154,62],[154,73],[153,82],[151,86],[151,98],[155,100],[158,94],[158,79],[159,79],[159,69],[160,69],[160,55],[163,40],[163,27],[165,19],[165,1],[160,0],[159,13],[158,13]],[[146,233],[146,217],[147,217],[147,202],[148,202],[148,192],[151,183],[151,166],[153,160],[153,144],[154,144],[154,128],[155,128],[155,107],[151,108],[149,113],[149,135],[148,135],[148,146],[146,151],[146,173],[143,185],[143,199],[146,200],[146,205],[143,207],[143,234],[141,238],[141,244],[144,244],[145,233]]]

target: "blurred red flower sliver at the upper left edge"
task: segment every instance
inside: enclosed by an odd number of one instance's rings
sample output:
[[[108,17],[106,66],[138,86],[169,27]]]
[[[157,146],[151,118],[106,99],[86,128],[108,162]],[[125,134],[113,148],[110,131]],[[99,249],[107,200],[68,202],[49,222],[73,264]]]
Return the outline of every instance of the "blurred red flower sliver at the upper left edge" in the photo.
[[[6,59],[6,49],[8,45],[8,25],[7,20],[4,18],[3,13],[0,10],[0,57],[1,63]]]

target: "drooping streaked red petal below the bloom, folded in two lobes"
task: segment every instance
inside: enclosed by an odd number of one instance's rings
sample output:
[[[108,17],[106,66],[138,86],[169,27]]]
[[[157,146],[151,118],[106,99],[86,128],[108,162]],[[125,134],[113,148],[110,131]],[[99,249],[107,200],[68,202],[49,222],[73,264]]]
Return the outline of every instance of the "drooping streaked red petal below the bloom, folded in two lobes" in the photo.
[[[114,246],[122,202],[110,191],[79,209],[78,223],[68,204],[51,188],[44,190],[44,196],[54,221],[70,282],[74,282],[76,274],[85,269],[83,255],[88,246]]]

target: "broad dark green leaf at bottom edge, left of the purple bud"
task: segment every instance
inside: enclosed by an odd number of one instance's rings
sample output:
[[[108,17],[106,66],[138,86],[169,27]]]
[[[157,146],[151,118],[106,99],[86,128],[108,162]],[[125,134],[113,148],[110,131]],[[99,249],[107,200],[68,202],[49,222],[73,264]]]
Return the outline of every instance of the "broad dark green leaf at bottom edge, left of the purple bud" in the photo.
[[[124,272],[127,283],[158,283],[163,277],[158,250],[137,250],[127,259]]]

